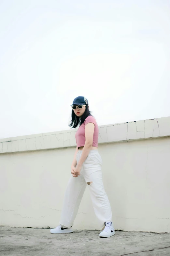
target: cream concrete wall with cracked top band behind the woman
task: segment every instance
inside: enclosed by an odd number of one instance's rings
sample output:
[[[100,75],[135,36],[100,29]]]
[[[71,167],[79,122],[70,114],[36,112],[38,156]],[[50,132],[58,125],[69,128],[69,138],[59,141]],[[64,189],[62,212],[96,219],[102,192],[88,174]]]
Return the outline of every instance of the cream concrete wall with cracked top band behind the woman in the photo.
[[[58,225],[76,131],[0,140],[0,225]],[[99,132],[115,229],[170,232],[170,117],[99,126]],[[99,229],[88,188],[74,229]]]

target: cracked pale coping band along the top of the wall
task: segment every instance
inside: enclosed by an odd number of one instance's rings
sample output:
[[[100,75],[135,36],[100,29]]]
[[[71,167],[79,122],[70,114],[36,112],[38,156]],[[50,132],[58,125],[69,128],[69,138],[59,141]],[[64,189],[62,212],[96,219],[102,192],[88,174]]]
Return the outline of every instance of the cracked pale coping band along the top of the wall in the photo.
[[[77,128],[0,139],[0,153],[76,146]],[[100,143],[170,136],[170,117],[99,126]]]

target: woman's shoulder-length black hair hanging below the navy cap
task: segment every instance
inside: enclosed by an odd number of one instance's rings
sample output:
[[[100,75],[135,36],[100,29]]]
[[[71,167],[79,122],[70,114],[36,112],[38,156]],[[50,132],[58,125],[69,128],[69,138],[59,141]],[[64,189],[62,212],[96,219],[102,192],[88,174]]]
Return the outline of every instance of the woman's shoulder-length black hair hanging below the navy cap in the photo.
[[[71,113],[71,123],[69,124],[69,126],[70,127],[72,126],[71,128],[76,128],[78,126],[78,124],[82,125],[84,123],[85,119],[89,115],[92,115],[92,114],[91,114],[91,111],[89,111],[89,108],[88,108],[87,104],[86,104],[86,110],[82,114],[81,118],[75,114],[74,110],[72,110],[72,113]]]

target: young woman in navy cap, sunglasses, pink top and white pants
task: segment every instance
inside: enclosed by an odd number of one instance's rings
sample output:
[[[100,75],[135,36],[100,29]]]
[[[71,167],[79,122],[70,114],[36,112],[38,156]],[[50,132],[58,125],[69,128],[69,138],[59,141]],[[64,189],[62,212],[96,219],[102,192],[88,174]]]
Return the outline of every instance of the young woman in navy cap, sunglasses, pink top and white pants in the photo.
[[[112,212],[102,181],[102,158],[98,152],[99,129],[95,118],[89,111],[88,100],[83,96],[74,99],[72,122],[69,126],[79,128],[75,138],[76,152],[71,165],[71,177],[68,181],[60,225],[51,229],[51,233],[72,233],[73,223],[85,191],[89,187],[94,212],[100,225],[100,237],[115,234],[112,224]]]

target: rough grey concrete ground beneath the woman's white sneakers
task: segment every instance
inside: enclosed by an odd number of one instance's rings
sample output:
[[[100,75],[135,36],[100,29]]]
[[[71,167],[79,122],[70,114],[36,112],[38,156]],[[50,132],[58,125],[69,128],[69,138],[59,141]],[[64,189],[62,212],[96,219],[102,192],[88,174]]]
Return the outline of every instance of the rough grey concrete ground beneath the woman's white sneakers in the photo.
[[[100,238],[99,233],[51,234],[49,229],[0,227],[0,255],[170,256],[170,233],[115,231],[109,238]]]

